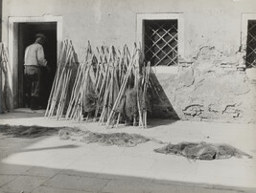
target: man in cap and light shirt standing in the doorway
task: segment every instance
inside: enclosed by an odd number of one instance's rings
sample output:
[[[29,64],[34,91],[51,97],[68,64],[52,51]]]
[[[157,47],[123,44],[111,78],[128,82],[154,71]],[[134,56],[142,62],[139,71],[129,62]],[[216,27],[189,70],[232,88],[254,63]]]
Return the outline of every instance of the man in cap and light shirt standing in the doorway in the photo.
[[[46,36],[43,33],[37,33],[35,34],[35,43],[25,50],[25,105],[32,110],[42,108],[40,101],[41,68],[48,68],[42,47],[45,41]]]

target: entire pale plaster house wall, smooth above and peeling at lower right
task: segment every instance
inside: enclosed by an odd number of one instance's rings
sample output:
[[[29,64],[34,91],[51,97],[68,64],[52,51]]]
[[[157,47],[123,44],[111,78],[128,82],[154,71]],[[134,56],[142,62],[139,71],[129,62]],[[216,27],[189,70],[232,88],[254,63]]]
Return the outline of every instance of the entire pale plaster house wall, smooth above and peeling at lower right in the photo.
[[[136,13],[142,12],[184,15],[185,55],[178,73],[151,75],[160,93],[153,98],[155,115],[255,121],[255,79],[248,77],[251,71],[237,70],[236,54],[241,14],[256,12],[255,0],[3,0],[2,39],[7,45],[11,16],[60,15],[63,39],[72,39],[80,58],[88,40],[92,46],[131,48]]]

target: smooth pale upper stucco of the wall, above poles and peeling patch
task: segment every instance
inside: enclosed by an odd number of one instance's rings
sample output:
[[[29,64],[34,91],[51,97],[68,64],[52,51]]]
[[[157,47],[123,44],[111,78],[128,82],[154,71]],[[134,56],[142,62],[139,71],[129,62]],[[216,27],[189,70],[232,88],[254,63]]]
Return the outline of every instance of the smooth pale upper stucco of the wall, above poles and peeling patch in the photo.
[[[26,6],[24,6],[26,5]],[[225,54],[240,46],[241,15],[256,12],[255,0],[3,0],[3,41],[8,39],[8,17],[63,16],[63,38],[77,49],[90,40],[93,46],[128,44],[136,35],[136,13],[183,12],[185,56],[202,46]]]

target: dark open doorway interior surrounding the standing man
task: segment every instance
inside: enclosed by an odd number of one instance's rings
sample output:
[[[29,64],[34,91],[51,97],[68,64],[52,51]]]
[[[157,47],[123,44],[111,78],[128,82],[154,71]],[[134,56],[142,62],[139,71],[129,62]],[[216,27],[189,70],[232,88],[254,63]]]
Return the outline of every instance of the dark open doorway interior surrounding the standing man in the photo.
[[[35,34],[42,32],[47,41],[44,44],[44,54],[50,71],[42,68],[41,104],[46,107],[57,69],[57,22],[18,23],[18,102],[19,108],[24,103],[24,54],[25,49],[35,42]]]

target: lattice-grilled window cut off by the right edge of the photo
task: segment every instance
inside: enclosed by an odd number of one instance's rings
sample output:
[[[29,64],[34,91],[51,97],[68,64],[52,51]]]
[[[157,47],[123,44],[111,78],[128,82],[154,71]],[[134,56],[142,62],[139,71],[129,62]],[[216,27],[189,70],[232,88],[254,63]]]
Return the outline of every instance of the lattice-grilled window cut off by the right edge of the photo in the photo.
[[[246,66],[256,66],[256,20],[248,20]]]

